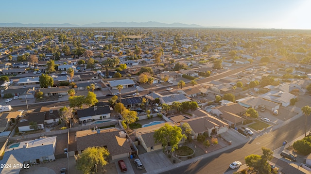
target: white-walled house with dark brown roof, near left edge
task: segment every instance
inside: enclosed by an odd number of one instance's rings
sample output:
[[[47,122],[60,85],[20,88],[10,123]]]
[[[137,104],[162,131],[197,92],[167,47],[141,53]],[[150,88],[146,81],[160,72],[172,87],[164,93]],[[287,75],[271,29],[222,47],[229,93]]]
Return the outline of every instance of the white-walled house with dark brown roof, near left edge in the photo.
[[[30,131],[35,130],[35,125],[37,129],[44,129],[44,119],[45,117],[39,113],[30,113],[19,119],[17,123],[18,131]]]

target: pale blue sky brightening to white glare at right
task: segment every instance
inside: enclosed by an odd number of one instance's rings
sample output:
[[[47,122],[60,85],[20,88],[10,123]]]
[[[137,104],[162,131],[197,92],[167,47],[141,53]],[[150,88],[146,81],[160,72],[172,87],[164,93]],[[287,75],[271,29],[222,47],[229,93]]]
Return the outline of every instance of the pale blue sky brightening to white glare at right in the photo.
[[[1,0],[0,23],[180,22],[311,29],[311,0]]]

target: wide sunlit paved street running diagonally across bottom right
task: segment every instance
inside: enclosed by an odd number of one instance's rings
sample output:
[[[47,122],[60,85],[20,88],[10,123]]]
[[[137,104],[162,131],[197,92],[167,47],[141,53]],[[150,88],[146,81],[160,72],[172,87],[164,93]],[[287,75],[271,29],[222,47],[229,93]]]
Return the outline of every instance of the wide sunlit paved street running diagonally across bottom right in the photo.
[[[308,117],[308,123],[311,122],[311,117]],[[229,164],[235,160],[239,160],[245,164],[244,157],[250,154],[262,155],[261,147],[273,149],[282,146],[284,140],[293,141],[295,138],[304,134],[305,117],[301,116],[291,123],[282,126],[276,130],[244,143],[234,149],[219,152],[208,158],[202,158],[197,162],[179,166],[161,174],[223,174],[231,173],[236,170],[231,170]],[[309,130],[311,125],[308,125]],[[275,138],[276,137],[276,138]],[[302,158],[297,159],[297,164],[303,161]]]

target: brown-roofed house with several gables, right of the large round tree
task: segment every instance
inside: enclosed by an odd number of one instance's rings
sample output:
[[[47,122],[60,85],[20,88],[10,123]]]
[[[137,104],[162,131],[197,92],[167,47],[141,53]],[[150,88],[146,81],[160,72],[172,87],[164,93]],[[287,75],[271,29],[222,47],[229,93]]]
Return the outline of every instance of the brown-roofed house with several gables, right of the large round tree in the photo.
[[[210,116],[207,112],[202,110],[194,111],[196,115],[204,115],[193,117],[190,119],[180,121],[182,126],[188,123],[192,128],[192,139],[196,139],[199,135],[207,134],[208,136],[224,133],[228,130],[229,125],[224,121]]]

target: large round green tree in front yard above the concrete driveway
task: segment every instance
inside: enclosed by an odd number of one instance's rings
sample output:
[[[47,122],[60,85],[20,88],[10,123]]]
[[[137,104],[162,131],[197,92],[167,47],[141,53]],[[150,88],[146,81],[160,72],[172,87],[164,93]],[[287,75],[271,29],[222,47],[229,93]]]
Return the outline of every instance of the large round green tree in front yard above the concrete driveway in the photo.
[[[182,130],[177,126],[170,126],[169,124],[165,124],[163,127],[155,130],[154,139],[155,143],[161,143],[163,150],[168,146],[170,142],[171,152],[174,152],[175,149],[178,149],[179,142],[183,139],[187,138],[186,135],[182,134]]]

